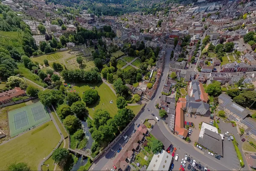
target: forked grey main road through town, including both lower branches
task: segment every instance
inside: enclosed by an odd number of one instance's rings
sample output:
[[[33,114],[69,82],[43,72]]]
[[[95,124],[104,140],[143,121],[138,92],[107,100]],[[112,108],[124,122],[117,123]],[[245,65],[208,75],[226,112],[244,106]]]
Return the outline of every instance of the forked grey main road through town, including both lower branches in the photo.
[[[156,100],[161,95],[163,84],[169,72],[169,62],[170,62],[171,52],[172,52],[172,49],[166,49],[165,67],[163,70],[162,78],[160,80],[159,88],[157,89],[156,96],[154,96],[154,98],[146,104],[145,110],[140,114],[139,118],[134,122],[134,125],[128,128],[128,130],[125,133],[122,133],[122,136],[127,135],[131,137],[132,131],[134,129],[137,129],[137,124],[143,123],[143,121],[146,118],[154,118],[154,116],[151,115],[151,112],[154,113],[155,116],[160,118],[159,112],[155,108],[155,104],[156,104]],[[148,111],[147,109],[149,109],[150,111]],[[157,125],[160,128],[160,131],[161,131],[160,133],[163,134],[167,139],[169,139],[170,142],[178,145],[182,150],[186,151],[186,153],[193,155],[195,158],[197,158],[201,162],[204,162],[209,167],[214,168],[215,170],[221,170],[221,171],[232,170],[232,168],[227,168],[224,165],[220,165],[218,161],[215,161],[214,159],[207,157],[207,155],[201,154],[200,152],[196,151],[192,145],[184,143],[183,140],[177,138],[177,136],[170,133],[169,129],[166,127],[165,123],[162,120],[157,122]],[[120,146],[124,146],[124,145],[125,145],[125,140],[121,138],[118,142],[116,142],[115,145],[112,146],[111,150],[108,150],[103,157],[96,160],[89,170],[91,171],[106,170],[106,168],[103,168],[103,167],[107,163],[108,165],[109,163],[111,163],[111,160],[114,159],[116,151],[119,149]]]

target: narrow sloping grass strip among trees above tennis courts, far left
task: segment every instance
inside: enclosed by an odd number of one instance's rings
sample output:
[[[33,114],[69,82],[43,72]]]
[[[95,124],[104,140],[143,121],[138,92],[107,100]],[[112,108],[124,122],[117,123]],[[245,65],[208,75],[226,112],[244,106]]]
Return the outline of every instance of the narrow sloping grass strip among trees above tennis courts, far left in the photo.
[[[41,85],[42,87],[47,87],[47,84],[44,83],[38,75],[32,73],[29,69],[25,68],[24,64],[17,63],[18,65],[18,71],[21,76],[33,81],[34,83]]]

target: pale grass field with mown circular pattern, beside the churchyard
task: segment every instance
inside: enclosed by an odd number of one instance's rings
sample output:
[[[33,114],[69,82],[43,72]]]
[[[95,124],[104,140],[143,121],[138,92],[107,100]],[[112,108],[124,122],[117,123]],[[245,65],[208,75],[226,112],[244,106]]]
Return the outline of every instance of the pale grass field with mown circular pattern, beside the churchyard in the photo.
[[[88,51],[88,50],[87,50]],[[77,52],[77,51],[76,51]],[[53,62],[65,65],[67,69],[77,69],[79,68],[79,64],[76,62],[76,54],[71,54],[74,52],[71,52],[70,50],[64,51],[64,52],[56,52],[50,55],[42,55],[36,58],[31,58],[32,61],[37,61],[39,64],[44,64],[44,59],[47,59],[49,62],[49,65],[52,66]],[[79,55],[81,53],[77,53]],[[92,67],[94,67],[94,63],[91,59],[91,56],[84,57],[84,64],[86,64],[86,67],[84,67],[85,70],[90,70]]]

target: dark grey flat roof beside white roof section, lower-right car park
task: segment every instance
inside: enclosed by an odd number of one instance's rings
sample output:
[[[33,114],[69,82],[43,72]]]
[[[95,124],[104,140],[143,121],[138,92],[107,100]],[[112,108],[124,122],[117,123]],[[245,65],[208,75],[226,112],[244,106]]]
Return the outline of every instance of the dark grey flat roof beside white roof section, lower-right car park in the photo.
[[[223,156],[223,144],[221,136],[218,133],[205,129],[203,138],[198,138],[198,144]]]

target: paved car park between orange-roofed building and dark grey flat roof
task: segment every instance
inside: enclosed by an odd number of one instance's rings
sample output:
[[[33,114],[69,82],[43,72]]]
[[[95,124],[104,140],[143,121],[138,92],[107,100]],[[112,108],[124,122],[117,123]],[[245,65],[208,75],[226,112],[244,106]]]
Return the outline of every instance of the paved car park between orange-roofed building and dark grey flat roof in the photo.
[[[209,117],[205,117],[205,116],[198,116],[196,115],[192,115],[192,117],[190,117],[190,114],[188,113],[188,116],[186,116],[185,114],[185,121],[186,122],[193,122],[193,124],[195,125],[195,128],[190,127],[190,129],[193,131],[191,135],[189,135],[189,138],[192,142],[196,142],[198,140],[198,136],[200,133],[199,130],[199,123],[201,122],[206,122],[209,123],[210,122],[210,118]]]

